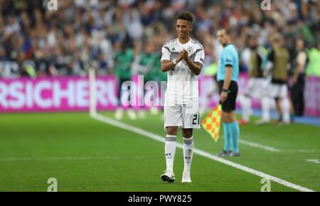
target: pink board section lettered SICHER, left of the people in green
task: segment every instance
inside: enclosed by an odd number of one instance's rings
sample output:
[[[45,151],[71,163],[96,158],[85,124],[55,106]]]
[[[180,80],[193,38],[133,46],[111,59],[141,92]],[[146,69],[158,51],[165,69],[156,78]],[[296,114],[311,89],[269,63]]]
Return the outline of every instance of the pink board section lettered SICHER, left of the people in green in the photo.
[[[117,80],[97,77],[97,109],[117,107]],[[0,80],[0,112],[62,112],[89,109],[87,77]]]

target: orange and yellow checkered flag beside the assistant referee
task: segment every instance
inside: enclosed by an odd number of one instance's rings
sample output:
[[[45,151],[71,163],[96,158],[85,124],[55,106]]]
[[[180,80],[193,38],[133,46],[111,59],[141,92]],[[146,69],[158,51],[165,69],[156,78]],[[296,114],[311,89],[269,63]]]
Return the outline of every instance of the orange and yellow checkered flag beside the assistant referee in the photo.
[[[222,106],[218,104],[201,122],[203,128],[208,131],[215,141],[219,139]]]

